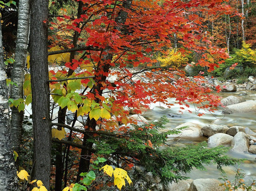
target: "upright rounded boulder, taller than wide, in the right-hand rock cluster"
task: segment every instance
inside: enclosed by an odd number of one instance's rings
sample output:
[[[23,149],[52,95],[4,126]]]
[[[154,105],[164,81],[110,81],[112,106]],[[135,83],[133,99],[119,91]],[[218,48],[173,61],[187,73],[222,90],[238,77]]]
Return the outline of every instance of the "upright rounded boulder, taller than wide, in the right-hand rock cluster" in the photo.
[[[238,132],[231,142],[231,151],[234,152],[248,152],[250,138],[244,132]]]

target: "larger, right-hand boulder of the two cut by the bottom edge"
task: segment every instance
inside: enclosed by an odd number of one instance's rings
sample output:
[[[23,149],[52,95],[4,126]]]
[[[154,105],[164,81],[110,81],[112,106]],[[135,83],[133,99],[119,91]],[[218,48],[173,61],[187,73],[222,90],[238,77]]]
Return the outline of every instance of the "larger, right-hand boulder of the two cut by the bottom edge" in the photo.
[[[223,191],[221,182],[216,179],[196,179],[189,187],[188,191]]]

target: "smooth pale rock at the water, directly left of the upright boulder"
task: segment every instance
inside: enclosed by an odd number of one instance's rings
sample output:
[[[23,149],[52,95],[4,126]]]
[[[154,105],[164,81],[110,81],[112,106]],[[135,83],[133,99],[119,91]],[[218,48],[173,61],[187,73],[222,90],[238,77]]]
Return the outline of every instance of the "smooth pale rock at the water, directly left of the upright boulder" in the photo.
[[[209,147],[231,144],[233,137],[225,133],[216,133],[208,138]]]

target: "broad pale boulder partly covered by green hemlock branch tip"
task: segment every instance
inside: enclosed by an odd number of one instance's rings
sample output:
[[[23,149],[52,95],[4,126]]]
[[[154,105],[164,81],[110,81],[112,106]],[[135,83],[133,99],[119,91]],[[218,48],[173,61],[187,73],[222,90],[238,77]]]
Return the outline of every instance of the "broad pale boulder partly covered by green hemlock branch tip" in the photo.
[[[183,129],[183,130],[178,130],[178,131],[181,131],[181,133],[174,134],[174,135],[168,135],[168,137],[169,138],[199,137],[202,134],[202,132],[200,130],[202,126],[199,125],[199,124],[187,122],[187,123],[184,123],[184,124],[181,124],[181,125],[175,127],[174,129],[177,130],[177,129],[182,128],[182,127],[186,127],[186,128]]]

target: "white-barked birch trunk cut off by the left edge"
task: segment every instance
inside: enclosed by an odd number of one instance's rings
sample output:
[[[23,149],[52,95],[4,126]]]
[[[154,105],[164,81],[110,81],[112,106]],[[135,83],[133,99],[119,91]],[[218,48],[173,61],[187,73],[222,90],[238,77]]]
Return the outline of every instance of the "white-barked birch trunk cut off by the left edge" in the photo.
[[[1,20],[1,19],[0,19]],[[16,168],[12,151],[8,91],[0,24],[0,190],[16,191]]]

